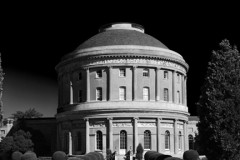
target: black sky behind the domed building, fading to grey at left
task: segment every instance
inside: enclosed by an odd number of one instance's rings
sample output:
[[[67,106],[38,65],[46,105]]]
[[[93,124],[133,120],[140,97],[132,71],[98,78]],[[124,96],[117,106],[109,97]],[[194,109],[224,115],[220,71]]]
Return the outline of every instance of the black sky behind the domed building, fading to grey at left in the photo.
[[[197,115],[195,103],[212,51],[218,49],[223,39],[240,48],[240,14],[234,4],[193,4],[192,7],[152,4],[143,9],[105,6],[98,10],[85,5],[28,5],[32,6],[1,6],[5,117],[29,108],[36,108],[45,117],[56,114],[55,66],[63,55],[97,34],[98,28],[106,23],[140,24],[146,34],[183,56],[190,66],[187,96],[191,115]]]

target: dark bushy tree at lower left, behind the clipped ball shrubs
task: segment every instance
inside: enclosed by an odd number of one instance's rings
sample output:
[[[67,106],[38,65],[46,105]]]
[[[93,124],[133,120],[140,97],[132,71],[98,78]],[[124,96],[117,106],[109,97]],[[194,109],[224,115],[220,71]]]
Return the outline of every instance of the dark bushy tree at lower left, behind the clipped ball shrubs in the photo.
[[[12,153],[14,151],[20,151],[25,153],[26,151],[33,151],[33,145],[30,132],[19,130],[15,132],[13,136],[3,138],[0,148],[3,152]]]

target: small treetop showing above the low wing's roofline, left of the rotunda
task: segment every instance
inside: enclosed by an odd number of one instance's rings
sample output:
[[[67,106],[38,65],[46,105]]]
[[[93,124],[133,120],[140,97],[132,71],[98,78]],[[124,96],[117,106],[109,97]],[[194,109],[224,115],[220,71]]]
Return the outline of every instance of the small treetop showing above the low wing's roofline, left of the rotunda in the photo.
[[[43,116],[42,113],[35,110],[35,108],[30,108],[29,110],[22,112],[17,111],[12,114],[14,119],[22,119],[22,118],[41,118]]]

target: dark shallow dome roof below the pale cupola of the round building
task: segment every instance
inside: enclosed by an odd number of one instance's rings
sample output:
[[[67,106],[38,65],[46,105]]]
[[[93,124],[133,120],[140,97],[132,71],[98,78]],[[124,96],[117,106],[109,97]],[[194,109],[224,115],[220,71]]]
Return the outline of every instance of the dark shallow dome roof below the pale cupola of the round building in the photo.
[[[82,43],[76,50],[112,45],[137,45],[168,49],[163,43],[148,34],[130,29],[114,29],[100,32]]]

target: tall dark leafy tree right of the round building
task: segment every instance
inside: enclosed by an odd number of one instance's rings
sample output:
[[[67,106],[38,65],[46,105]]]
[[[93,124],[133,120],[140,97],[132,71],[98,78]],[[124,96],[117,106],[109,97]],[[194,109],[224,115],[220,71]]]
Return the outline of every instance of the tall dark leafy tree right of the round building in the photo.
[[[213,51],[201,92],[198,148],[208,159],[240,159],[240,54],[228,40]]]

